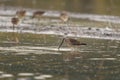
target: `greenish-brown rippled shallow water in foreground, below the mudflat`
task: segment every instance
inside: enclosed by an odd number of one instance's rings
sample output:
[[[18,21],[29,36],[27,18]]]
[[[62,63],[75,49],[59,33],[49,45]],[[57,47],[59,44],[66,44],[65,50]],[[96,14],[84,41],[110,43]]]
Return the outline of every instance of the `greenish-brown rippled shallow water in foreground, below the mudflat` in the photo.
[[[48,35],[47,43],[49,44],[47,44],[41,38],[35,38],[35,35],[24,35],[27,38],[20,40],[19,44],[11,41],[3,43],[4,39],[1,40],[0,71],[3,72],[1,80],[101,78],[119,80],[120,41],[80,38],[79,40],[87,43],[87,46],[80,46],[73,51],[64,43],[58,50],[61,38]],[[10,35],[8,35],[9,37]],[[24,75],[20,76],[21,73]],[[5,76],[6,74],[8,77]],[[49,77],[43,75],[49,75]]]

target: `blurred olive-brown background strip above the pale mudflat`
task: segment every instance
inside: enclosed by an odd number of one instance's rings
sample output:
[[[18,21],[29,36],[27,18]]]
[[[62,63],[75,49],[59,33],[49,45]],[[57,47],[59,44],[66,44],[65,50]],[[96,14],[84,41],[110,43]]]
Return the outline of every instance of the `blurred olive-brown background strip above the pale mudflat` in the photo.
[[[120,0],[1,0],[0,4],[21,8],[120,15]]]

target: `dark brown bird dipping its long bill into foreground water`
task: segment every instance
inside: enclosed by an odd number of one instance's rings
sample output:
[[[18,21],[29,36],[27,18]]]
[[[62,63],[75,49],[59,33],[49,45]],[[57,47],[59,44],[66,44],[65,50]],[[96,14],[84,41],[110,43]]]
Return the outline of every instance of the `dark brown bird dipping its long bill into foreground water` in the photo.
[[[80,45],[87,45],[86,43],[81,43],[80,41],[73,39],[73,38],[63,38],[62,42],[60,43],[60,45],[58,46],[58,50],[60,49],[60,47],[62,46],[62,44],[65,42],[68,43],[68,46],[80,46]]]

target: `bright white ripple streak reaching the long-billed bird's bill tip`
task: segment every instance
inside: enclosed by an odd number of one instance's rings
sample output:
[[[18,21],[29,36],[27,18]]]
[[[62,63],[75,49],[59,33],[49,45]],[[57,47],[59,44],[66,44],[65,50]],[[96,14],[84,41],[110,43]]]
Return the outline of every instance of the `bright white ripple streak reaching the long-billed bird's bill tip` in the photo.
[[[15,52],[16,55],[28,54],[61,54],[62,52],[72,51],[71,48],[61,48],[58,50],[56,47],[33,47],[33,46],[15,46],[15,47],[0,47],[1,51]]]

